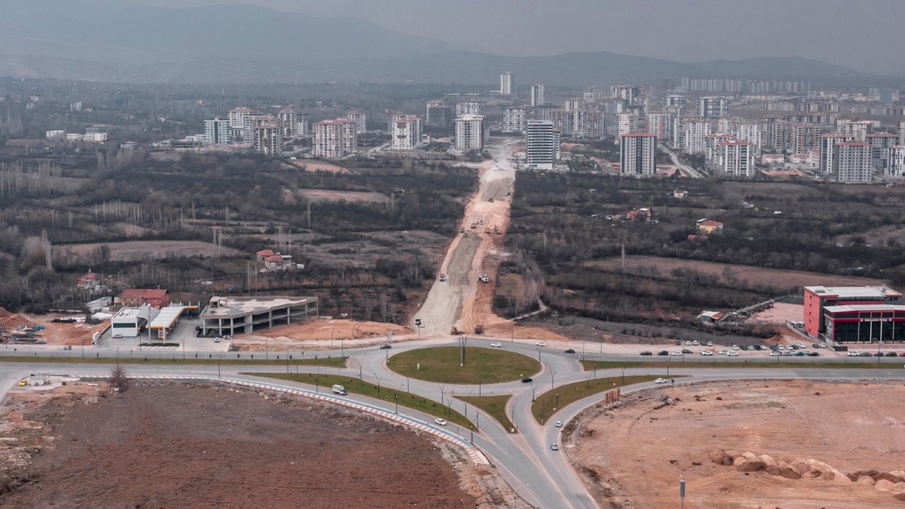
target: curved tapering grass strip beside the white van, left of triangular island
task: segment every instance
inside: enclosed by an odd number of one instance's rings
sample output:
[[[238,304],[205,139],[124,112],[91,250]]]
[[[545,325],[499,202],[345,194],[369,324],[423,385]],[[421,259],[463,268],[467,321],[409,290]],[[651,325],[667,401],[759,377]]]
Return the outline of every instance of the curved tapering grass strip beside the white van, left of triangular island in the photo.
[[[330,392],[330,388],[338,384],[346,388],[350,393],[380,399],[394,405],[398,403],[399,407],[412,408],[436,418],[444,418],[465,428],[472,426],[472,421],[465,418],[461,413],[452,410],[446,405],[441,405],[433,399],[425,399],[404,390],[390,389],[383,386],[378,388],[373,383],[352,377],[318,375],[316,373],[243,373],[243,375],[307,383],[316,386],[316,389],[319,388],[318,390],[324,394],[333,394]]]

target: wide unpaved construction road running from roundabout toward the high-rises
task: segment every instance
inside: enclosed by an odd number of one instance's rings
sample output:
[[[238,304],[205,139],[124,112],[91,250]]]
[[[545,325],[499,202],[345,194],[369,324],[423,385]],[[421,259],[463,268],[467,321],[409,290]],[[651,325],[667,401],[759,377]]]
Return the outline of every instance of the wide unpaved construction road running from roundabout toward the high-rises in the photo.
[[[504,321],[491,312],[492,278],[498,264],[492,255],[499,252],[509,226],[511,196],[507,195],[515,183],[515,168],[507,156],[512,143],[506,141],[492,149],[498,162],[491,160],[481,165],[480,187],[465,207],[460,224],[465,232],[452,240],[440,268],[447,276],[446,282],[433,284],[415,314],[424,323],[422,336],[448,335],[453,326],[472,333],[477,324],[489,326]],[[476,227],[472,228],[472,224]],[[479,283],[481,274],[490,276],[490,283]]]

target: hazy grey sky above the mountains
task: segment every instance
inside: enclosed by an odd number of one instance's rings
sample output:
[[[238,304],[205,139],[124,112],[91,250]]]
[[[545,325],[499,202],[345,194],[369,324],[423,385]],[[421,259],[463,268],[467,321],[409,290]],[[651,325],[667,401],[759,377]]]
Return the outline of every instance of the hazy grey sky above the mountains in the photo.
[[[681,62],[803,56],[858,71],[905,73],[905,0],[133,1],[356,16],[483,53],[610,51]]]

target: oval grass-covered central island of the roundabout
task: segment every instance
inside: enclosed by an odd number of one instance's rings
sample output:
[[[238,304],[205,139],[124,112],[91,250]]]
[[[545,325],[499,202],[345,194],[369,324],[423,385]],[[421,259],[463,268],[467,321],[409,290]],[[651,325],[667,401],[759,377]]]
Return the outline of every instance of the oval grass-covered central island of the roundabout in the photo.
[[[400,375],[440,383],[499,383],[534,376],[540,362],[527,355],[491,348],[443,346],[404,351],[387,360],[386,365]]]

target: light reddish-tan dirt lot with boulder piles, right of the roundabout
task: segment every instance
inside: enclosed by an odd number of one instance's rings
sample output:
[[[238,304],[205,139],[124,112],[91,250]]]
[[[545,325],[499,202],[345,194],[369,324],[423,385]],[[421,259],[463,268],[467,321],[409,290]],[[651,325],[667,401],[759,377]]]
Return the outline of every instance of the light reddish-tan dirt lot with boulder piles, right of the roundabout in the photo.
[[[661,395],[673,404],[663,405]],[[684,476],[689,509],[887,509],[905,504],[895,498],[905,492],[905,482],[897,484],[905,477],[903,396],[900,384],[882,382],[655,389],[625,398],[621,408],[592,409],[577,446],[564,442],[607,507],[674,507]],[[722,451],[770,457],[757,458],[765,464],[722,465],[715,461]],[[776,469],[765,471],[771,462]]]

